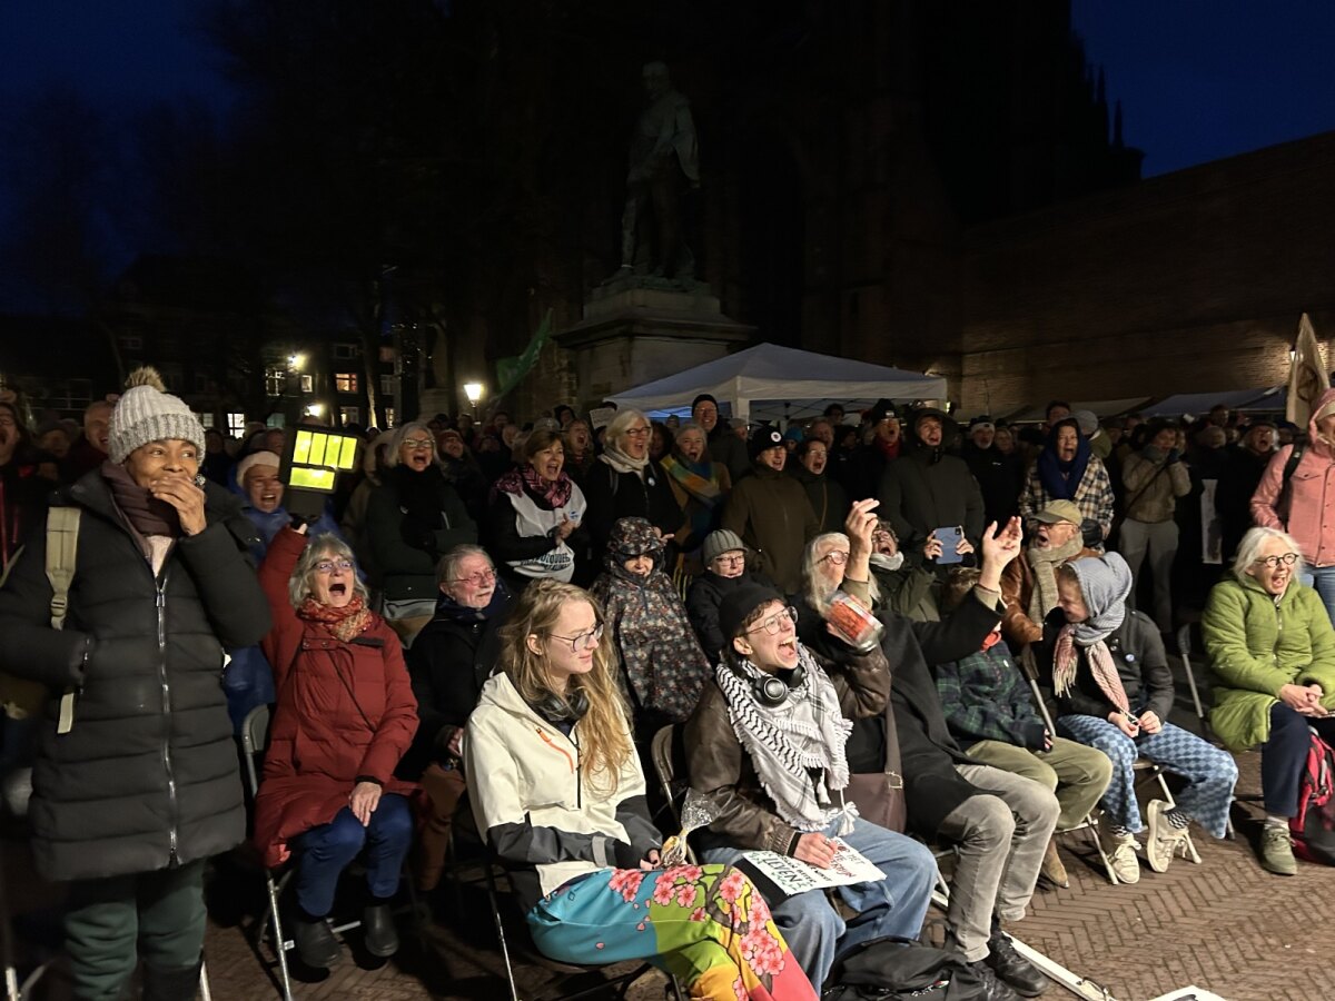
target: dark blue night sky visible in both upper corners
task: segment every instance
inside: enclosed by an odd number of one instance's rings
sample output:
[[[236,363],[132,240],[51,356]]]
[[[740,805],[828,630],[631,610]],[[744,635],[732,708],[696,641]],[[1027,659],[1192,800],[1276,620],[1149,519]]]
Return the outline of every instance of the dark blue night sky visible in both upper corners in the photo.
[[[111,109],[182,93],[226,107],[214,56],[190,29],[196,4],[9,0],[4,104],[64,80]],[[1328,0],[1073,0],[1072,19],[1147,176],[1335,128]]]

